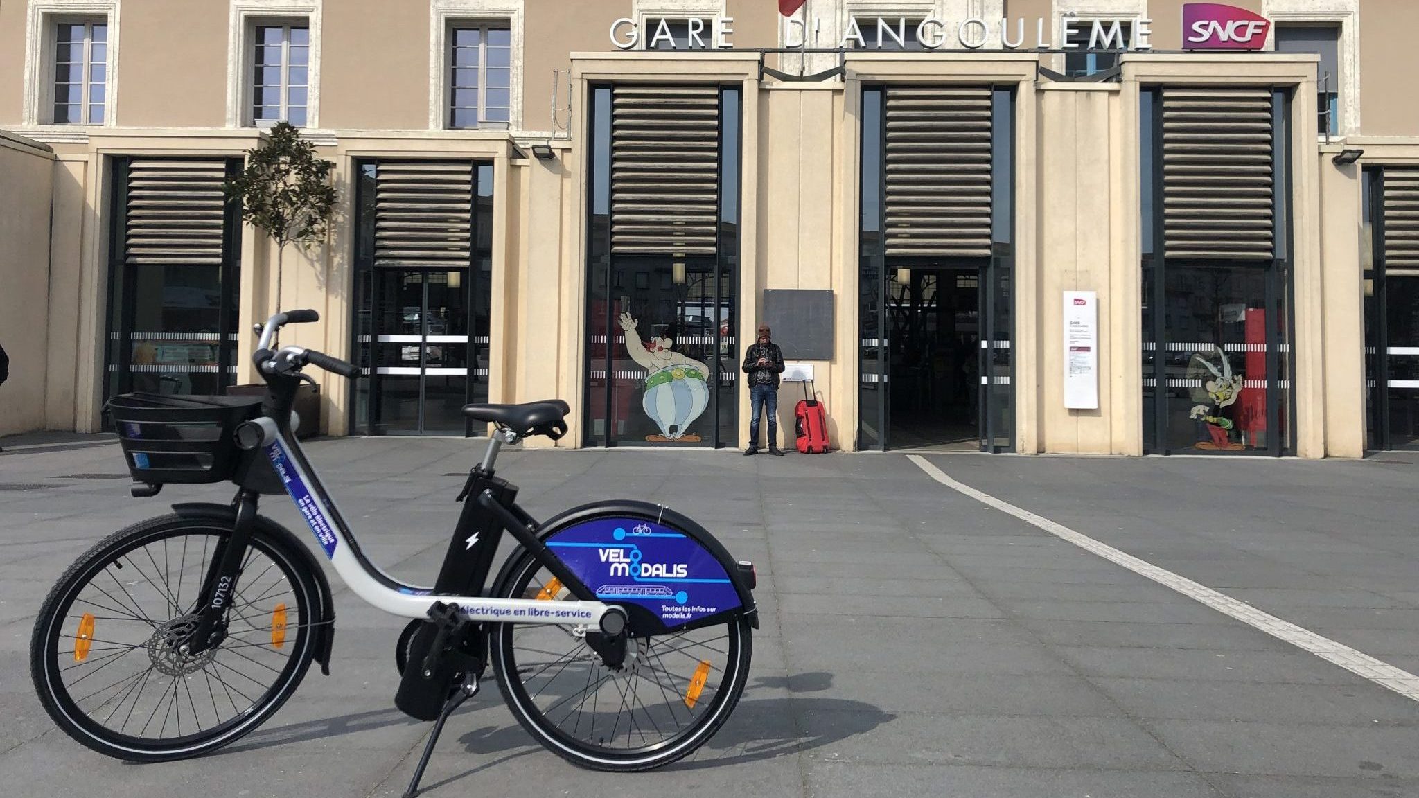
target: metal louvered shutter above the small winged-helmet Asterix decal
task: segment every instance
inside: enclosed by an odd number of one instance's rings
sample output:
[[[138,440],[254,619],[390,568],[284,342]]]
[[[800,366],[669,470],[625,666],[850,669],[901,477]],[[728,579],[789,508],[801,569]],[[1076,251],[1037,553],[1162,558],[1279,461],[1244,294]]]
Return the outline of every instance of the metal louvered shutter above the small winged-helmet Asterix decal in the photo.
[[[1168,257],[1273,257],[1273,135],[1270,89],[1162,89]]]

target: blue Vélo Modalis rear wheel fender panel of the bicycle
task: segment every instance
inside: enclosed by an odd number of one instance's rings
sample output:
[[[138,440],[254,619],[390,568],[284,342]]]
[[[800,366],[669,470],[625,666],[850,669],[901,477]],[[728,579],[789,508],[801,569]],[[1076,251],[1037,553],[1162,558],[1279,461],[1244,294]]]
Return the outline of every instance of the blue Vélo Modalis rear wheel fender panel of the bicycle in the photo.
[[[674,510],[597,501],[551,518],[539,537],[597,599],[644,609],[663,629],[727,612],[741,612],[759,628],[752,586],[734,557]],[[504,578],[511,574],[499,584]]]

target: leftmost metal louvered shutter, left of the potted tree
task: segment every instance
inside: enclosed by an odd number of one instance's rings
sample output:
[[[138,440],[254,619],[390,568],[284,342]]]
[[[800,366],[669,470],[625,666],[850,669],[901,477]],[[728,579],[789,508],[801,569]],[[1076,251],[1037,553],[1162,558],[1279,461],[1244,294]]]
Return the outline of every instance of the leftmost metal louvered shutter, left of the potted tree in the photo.
[[[227,162],[135,158],[128,165],[123,261],[221,266]]]

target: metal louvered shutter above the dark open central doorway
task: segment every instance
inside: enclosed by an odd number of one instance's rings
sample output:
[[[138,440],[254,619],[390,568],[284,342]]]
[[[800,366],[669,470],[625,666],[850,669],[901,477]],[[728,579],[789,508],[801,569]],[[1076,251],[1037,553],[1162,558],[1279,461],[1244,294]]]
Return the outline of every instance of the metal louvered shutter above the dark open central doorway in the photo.
[[[990,254],[990,88],[887,88],[887,254]]]

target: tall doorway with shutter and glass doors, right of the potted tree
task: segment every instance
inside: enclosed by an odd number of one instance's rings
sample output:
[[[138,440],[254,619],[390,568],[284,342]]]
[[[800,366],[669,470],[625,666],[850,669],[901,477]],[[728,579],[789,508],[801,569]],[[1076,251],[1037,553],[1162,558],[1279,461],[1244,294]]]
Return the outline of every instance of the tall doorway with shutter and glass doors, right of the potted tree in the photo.
[[[463,406],[488,400],[492,165],[356,166],[350,429],[484,434]]]

